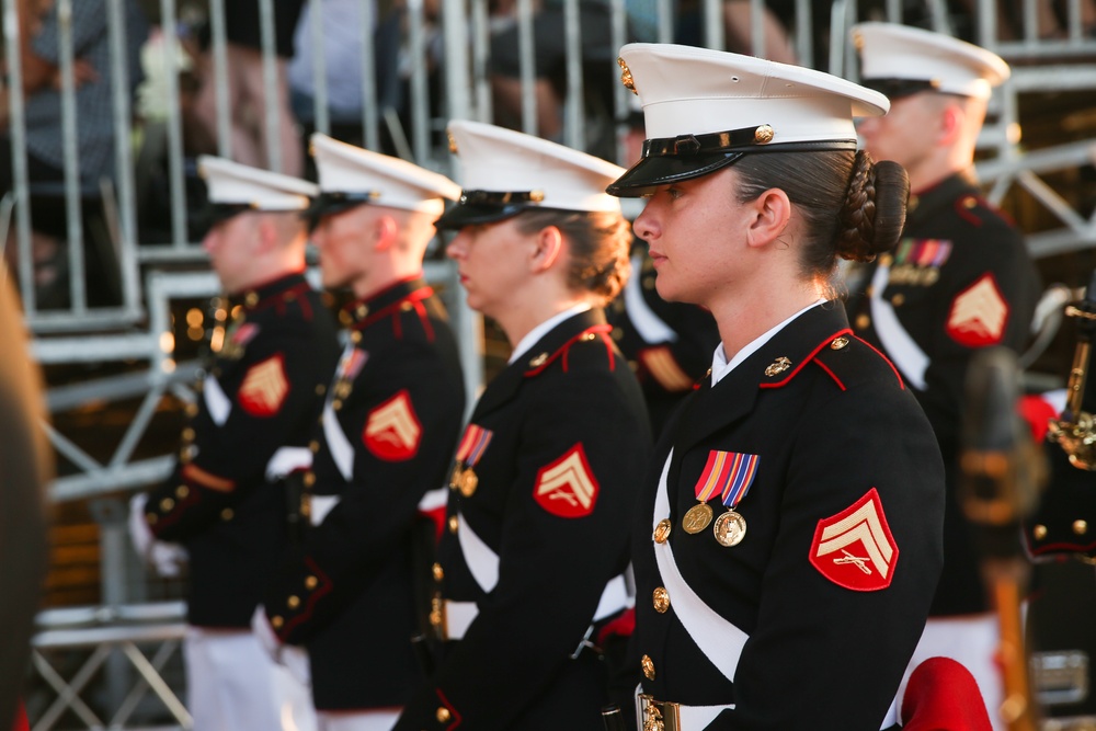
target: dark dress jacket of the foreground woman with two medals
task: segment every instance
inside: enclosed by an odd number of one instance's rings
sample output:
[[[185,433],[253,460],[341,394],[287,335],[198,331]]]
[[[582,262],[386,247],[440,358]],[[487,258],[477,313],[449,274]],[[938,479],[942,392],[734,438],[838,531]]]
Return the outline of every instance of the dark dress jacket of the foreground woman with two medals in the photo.
[[[682,527],[712,452],[757,456],[737,546]],[[655,506],[664,469],[669,516]],[[726,511],[718,495],[709,504]],[[709,729],[877,731],[925,624],[943,516],[939,450],[916,401],[840,304],[808,310],[715,387],[705,379],[655,447],[633,530],[643,693],[735,705]],[[695,596],[749,637],[733,682],[705,651],[734,649],[690,635],[681,592],[658,601],[672,584],[655,555],[667,546]]]

